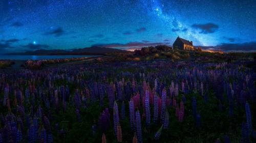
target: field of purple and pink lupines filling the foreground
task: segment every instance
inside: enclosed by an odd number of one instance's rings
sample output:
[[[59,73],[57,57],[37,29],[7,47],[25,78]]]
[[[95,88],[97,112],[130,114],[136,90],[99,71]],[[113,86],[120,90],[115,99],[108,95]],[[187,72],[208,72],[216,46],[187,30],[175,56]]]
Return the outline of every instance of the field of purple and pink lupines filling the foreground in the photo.
[[[254,142],[250,61],[0,73],[0,142]]]

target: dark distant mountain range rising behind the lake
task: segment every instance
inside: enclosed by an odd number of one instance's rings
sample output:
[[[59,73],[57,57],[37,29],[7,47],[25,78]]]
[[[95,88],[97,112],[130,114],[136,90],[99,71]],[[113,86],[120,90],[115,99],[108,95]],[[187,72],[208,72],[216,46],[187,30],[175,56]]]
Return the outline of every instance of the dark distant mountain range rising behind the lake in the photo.
[[[129,52],[129,51],[113,49],[113,48],[104,48],[104,47],[88,47],[88,48],[73,49],[73,50],[39,49],[35,51],[6,53],[6,55],[102,55],[106,53],[126,53],[126,52]]]

